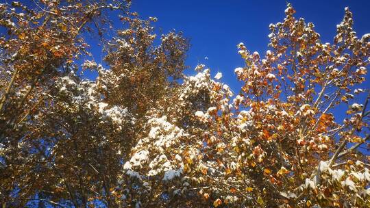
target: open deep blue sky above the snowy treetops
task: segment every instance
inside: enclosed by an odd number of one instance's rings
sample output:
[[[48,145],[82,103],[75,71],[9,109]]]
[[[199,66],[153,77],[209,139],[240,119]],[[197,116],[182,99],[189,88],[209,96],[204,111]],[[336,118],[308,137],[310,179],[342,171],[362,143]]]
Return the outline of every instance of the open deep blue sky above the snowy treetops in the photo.
[[[370,1],[289,1],[297,11],[296,17],[312,22],[323,42],[332,42],[336,25],[341,23],[344,8],[354,13],[354,29],[358,36],[370,33]],[[236,44],[244,42],[249,51],[262,54],[267,50],[269,24],[282,22],[286,1],[153,1],[134,0],[132,11],[140,17],[156,16],[156,27],[163,32],[176,29],[190,38],[187,64],[193,74],[197,63],[223,73],[223,81],[238,92],[234,68],[243,66]],[[208,60],[205,60],[208,57]],[[367,76],[369,77],[369,75]],[[369,83],[369,82],[367,82]]]

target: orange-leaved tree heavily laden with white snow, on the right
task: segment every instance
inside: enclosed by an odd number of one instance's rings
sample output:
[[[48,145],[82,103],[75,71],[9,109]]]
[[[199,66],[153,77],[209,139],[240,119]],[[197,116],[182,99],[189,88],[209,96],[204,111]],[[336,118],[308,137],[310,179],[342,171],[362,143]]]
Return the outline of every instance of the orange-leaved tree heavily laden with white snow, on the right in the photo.
[[[124,206],[370,205],[369,161],[358,151],[369,140],[370,95],[360,96],[369,90],[358,86],[370,44],[356,37],[348,8],[333,44],[294,13],[288,5],[284,22],[269,26],[263,58],[238,44],[243,87],[232,102],[206,69],[151,113],[123,166]]]

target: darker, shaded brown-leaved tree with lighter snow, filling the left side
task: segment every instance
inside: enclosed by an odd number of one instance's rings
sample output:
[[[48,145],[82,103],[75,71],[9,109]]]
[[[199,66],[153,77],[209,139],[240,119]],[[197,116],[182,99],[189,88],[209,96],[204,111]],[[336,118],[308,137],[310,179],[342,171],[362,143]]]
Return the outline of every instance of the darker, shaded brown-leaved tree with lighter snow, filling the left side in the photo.
[[[125,153],[145,109],[154,107],[149,103],[182,77],[188,47],[174,31],[155,46],[155,19],[141,21],[129,6],[130,1],[0,5],[0,25],[8,29],[1,37],[3,207],[117,206],[112,191]],[[106,46],[110,70],[84,61],[82,70],[99,73],[89,81],[77,63],[89,53],[89,31],[104,38],[106,10],[118,11],[125,29]]]

